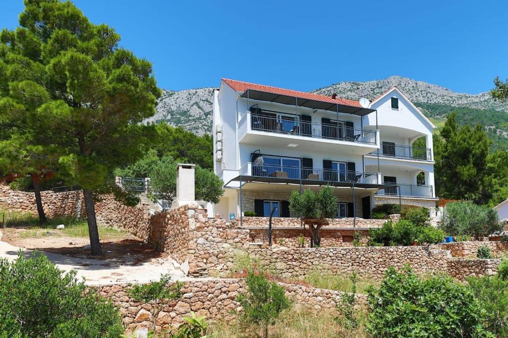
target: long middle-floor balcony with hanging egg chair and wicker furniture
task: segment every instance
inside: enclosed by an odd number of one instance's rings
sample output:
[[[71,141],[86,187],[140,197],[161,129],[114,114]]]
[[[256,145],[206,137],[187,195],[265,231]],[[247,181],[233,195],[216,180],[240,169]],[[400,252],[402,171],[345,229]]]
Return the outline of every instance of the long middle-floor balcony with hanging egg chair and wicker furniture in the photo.
[[[304,166],[259,164],[248,162],[240,168],[241,176],[259,178],[259,182],[285,182],[308,185],[334,185],[358,187],[364,185],[380,184],[380,174],[354,172],[347,170],[333,170],[323,168],[310,168]],[[385,185],[386,187],[386,185]]]

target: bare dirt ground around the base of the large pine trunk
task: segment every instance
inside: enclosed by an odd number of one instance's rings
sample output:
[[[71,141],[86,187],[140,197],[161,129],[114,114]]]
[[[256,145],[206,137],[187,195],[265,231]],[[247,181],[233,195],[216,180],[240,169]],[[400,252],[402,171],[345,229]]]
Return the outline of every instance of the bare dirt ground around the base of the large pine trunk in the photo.
[[[165,259],[168,256],[154,251],[146,242],[123,231],[101,240],[102,256],[91,256],[88,237],[67,236],[57,229],[8,227],[2,229],[2,232],[2,241],[13,246],[78,258],[108,259],[121,264],[138,264]]]

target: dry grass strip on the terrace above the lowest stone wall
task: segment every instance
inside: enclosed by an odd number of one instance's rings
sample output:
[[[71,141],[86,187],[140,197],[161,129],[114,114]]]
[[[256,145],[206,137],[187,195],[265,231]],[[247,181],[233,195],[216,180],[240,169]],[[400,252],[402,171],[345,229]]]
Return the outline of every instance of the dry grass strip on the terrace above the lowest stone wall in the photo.
[[[336,290],[350,292],[352,282],[349,276],[334,275],[330,272],[312,271],[305,276],[305,282],[309,285],[327,290]],[[367,288],[371,285],[377,286],[377,283],[373,280],[358,279],[356,282],[358,293],[367,293]]]

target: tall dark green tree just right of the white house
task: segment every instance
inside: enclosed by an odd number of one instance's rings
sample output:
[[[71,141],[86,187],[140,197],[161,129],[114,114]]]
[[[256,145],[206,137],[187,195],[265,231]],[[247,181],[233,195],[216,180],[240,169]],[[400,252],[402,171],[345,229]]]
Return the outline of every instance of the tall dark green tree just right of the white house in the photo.
[[[434,137],[437,195],[451,199],[487,202],[487,156],[490,141],[480,124],[459,127],[455,112],[448,115],[439,135]]]

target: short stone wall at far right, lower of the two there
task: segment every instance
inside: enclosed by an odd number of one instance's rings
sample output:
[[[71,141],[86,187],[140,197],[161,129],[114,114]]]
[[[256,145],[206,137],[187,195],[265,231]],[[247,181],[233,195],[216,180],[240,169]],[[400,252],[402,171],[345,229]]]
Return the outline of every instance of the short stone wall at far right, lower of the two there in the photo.
[[[449,259],[448,274],[458,280],[465,281],[466,277],[483,277],[497,274],[497,267],[501,259]]]

